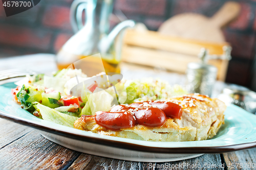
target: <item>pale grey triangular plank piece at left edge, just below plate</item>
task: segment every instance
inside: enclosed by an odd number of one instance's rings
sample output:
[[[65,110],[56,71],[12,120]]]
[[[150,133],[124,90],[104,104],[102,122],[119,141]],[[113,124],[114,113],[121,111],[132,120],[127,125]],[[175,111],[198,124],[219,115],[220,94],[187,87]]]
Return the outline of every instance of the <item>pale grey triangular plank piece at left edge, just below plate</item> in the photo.
[[[0,149],[26,135],[32,128],[0,118]]]

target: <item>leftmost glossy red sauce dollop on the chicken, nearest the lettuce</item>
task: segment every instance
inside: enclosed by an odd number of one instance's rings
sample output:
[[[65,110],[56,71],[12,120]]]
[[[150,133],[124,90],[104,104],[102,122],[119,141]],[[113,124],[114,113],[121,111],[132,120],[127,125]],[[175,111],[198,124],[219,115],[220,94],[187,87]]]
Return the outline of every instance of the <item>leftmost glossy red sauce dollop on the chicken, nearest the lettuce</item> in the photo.
[[[95,113],[96,124],[110,130],[120,130],[135,126],[135,118],[130,112],[104,112]]]

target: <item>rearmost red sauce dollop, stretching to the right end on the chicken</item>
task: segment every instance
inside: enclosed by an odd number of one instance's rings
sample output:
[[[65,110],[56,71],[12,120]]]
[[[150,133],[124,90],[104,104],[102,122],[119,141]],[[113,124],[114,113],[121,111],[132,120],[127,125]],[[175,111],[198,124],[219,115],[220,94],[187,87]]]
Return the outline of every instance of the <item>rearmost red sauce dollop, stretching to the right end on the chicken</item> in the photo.
[[[137,107],[137,108],[145,108],[148,106],[143,106],[143,103],[145,102],[136,102],[136,103],[132,103],[131,107]],[[154,102],[154,101],[146,101],[146,103],[152,105],[152,106],[156,106],[157,108],[161,109],[165,115],[167,117],[170,118],[181,118],[182,115],[182,107],[180,105],[177,105],[173,102]]]

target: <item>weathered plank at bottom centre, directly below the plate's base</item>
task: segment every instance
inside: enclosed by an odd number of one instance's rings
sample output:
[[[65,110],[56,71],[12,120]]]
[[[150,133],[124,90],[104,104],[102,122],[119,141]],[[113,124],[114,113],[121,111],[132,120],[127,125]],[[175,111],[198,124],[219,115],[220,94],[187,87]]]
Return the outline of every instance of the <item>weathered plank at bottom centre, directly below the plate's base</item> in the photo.
[[[178,166],[172,168],[172,166]],[[206,168],[203,168],[203,165]],[[118,159],[104,158],[100,156],[90,156],[81,154],[70,166],[71,169],[224,169],[222,167],[220,154],[205,154],[197,158],[175,161],[175,162],[133,162]],[[216,165],[216,167],[215,167]],[[193,168],[197,166],[196,168]],[[200,167],[199,167],[200,166]]]

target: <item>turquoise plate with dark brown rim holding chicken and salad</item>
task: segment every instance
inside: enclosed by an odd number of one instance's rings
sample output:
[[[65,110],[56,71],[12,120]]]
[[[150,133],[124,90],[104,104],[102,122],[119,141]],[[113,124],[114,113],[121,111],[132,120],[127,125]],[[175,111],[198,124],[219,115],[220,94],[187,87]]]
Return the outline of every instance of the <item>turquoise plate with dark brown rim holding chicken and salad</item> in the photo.
[[[0,117],[76,141],[96,143],[119,149],[151,153],[222,153],[256,147],[256,116],[230,105],[225,111],[225,125],[209,140],[185,142],[152,142],[104,136],[81,131],[39,119],[12,101],[13,83],[0,86]],[[43,134],[42,133],[42,134]],[[161,144],[160,144],[161,143]]]

